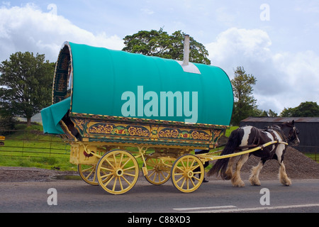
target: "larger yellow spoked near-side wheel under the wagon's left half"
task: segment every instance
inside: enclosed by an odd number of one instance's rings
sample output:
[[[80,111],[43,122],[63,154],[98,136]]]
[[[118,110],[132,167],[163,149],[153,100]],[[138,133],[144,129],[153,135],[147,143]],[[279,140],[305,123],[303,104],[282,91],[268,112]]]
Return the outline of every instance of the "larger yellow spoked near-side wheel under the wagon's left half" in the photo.
[[[125,150],[111,150],[99,160],[96,178],[99,185],[111,194],[123,194],[138,181],[138,162]]]

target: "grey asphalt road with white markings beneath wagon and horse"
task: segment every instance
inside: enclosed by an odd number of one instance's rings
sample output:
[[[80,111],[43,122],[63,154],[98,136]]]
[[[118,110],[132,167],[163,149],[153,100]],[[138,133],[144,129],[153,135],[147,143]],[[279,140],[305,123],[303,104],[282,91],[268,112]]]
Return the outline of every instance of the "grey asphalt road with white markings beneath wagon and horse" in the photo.
[[[245,183],[244,188],[234,188],[228,181],[213,180],[203,183],[196,192],[184,194],[177,191],[171,181],[155,186],[140,177],[130,192],[112,195],[82,180],[1,182],[0,212],[133,212],[174,215],[186,215],[186,212],[319,212],[319,179],[295,179],[291,187],[281,186],[277,180],[263,181],[261,187],[250,186],[247,181]],[[50,191],[48,194],[48,189],[55,189],[56,193]],[[55,194],[57,196],[53,198]],[[262,205],[261,201],[269,202],[269,205]]]

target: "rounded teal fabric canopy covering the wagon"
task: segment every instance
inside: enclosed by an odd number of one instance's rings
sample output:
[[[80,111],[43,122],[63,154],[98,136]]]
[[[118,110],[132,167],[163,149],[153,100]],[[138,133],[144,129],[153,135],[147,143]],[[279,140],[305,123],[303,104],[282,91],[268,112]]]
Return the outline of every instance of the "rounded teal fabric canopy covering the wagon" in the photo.
[[[219,67],[65,43],[55,69],[47,133],[70,116],[99,116],[228,126],[233,89]],[[69,106],[68,106],[69,105]],[[55,128],[56,126],[56,128]]]

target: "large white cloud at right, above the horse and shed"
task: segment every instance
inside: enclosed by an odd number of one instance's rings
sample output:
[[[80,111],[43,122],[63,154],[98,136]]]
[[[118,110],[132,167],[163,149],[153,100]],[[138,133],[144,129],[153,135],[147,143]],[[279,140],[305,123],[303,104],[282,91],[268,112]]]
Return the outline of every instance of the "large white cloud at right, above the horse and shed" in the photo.
[[[254,97],[260,109],[278,114],[284,107],[302,101],[319,102],[319,56],[312,50],[272,52],[272,40],[260,29],[230,28],[215,42],[206,44],[213,65],[233,78],[233,69],[243,66],[257,78]]]

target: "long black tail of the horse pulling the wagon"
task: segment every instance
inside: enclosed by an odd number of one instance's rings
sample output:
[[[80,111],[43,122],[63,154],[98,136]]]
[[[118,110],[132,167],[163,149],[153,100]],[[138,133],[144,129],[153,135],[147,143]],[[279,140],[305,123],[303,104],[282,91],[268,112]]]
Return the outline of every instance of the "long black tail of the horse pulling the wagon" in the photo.
[[[242,140],[242,137],[239,133],[239,128],[237,128],[235,131],[230,133],[230,137],[228,140],[228,143],[225,145],[225,149],[220,153],[220,155],[230,155],[233,154],[236,150],[236,148],[240,145]],[[227,167],[228,167],[229,157],[223,158],[217,160],[215,165],[211,168],[211,170],[208,171],[207,175],[220,175],[222,179],[228,179],[227,175],[225,174]]]

